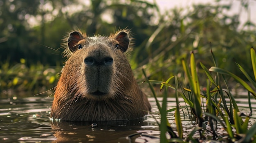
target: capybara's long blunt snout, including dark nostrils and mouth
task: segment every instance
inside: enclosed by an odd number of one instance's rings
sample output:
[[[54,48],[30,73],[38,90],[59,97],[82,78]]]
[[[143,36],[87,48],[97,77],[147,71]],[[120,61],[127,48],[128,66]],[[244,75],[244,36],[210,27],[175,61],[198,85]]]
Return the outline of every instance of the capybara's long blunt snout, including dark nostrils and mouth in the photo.
[[[81,78],[85,83],[85,96],[92,99],[103,100],[115,95],[112,87],[115,80],[114,49],[108,46],[94,44],[85,50]]]

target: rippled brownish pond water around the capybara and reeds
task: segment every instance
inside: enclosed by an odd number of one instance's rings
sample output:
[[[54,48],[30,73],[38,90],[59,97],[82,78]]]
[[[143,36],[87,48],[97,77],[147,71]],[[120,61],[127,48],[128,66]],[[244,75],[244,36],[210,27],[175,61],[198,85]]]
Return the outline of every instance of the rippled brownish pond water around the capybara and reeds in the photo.
[[[22,99],[0,100],[0,142],[1,143],[131,143],[159,142],[157,107],[153,98],[149,98],[153,115],[133,121],[108,122],[66,122],[50,121],[49,113],[52,98],[29,97]],[[249,113],[247,99],[239,99],[238,106]],[[184,104],[184,103],[181,103]],[[252,99],[253,113],[256,101]],[[183,106],[183,105],[181,105]],[[168,108],[175,107],[175,99],[168,99]],[[168,113],[168,120],[175,126],[174,112]],[[196,126],[189,120],[188,114],[181,114],[184,134]],[[154,117],[153,117],[154,116]],[[253,115],[254,121],[256,119]],[[252,123],[254,122],[252,121]],[[219,127],[220,129],[222,127]],[[174,128],[175,130],[175,128]],[[156,138],[155,138],[156,137]]]

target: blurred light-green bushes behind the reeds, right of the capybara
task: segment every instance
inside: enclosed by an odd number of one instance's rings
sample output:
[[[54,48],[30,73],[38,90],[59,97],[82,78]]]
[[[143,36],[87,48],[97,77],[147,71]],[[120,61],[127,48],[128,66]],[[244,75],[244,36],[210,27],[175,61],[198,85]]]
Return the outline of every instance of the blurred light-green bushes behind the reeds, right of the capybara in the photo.
[[[166,11],[162,23],[146,44],[149,57],[139,61],[150,79],[163,80],[171,75],[182,75],[180,59],[194,51],[198,62],[213,66],[210,42],[219,66],[242,76],[235,62],[252,70],[249,48],[256,44],[256,31],[238,29],[239,15],[225,15],[231,5],[193,5],[193,11],[181,15],[182,9]],[[167,19],[167,20],[164,20]],[[253,25],[251,25],[253,26]],[[150,62],[151,64],[147,64]],[[169,71],[169,72],[168,72]],[[199,71],[200,72],[200,71]]]

